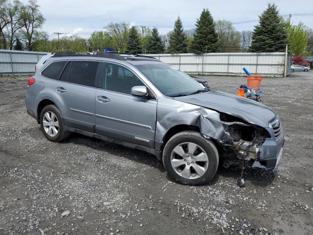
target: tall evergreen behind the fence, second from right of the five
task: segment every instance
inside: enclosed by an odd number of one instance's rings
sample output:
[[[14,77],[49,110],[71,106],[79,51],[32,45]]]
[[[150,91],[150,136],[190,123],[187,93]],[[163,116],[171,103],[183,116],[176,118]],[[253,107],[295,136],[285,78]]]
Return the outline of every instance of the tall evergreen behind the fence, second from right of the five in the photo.
[[[215,31],[213,17],[208,9],[203,9],[196,23],[194,40],[190,47],[192,53],[217,52],[219,50],[218,35]]]

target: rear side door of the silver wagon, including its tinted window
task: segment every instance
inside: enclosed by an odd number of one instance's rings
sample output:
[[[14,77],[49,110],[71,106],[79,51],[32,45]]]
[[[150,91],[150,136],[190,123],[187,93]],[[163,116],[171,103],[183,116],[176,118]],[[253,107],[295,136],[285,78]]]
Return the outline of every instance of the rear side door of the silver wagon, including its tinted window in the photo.
[[[61,107],[66,126],[89,132],[95,129],[96,74],[99,61],[68,61],[54,85],[54,99]]]

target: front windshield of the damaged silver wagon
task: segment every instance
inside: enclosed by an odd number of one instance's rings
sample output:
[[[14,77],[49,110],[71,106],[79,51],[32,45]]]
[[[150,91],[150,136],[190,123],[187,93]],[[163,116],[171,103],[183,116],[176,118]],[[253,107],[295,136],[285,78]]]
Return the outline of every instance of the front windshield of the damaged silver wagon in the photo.
[[[135,65],[163,94],[180,96],[204,90],[186,73],[166,64]],[[205,90],[204,90],[205,91]]]

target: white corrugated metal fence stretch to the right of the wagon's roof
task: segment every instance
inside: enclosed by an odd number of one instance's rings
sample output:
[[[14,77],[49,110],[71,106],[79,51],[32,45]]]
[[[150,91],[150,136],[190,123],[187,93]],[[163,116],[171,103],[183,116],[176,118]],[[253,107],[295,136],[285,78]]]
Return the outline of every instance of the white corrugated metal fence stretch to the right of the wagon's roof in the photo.
[[[181,71],[195,74],[241,74],[243,67],[246,67],[251,74],[284,76],[285,69],[284,52],[149,55]],[[291,66],[291,60],[288,60],[289,64]],[[290,74],[290,66],[287,75]]]

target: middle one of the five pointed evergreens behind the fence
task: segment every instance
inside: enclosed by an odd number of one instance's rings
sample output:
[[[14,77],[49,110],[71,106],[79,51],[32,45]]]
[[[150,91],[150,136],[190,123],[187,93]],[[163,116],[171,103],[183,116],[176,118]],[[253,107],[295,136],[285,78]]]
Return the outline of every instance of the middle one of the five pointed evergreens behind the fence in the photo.
[[[168,51],[171,54],[187,53],[188,40],[184,32],[180,18],[178,17],[175,22],[175,27],[169,34],[169,47]]]

